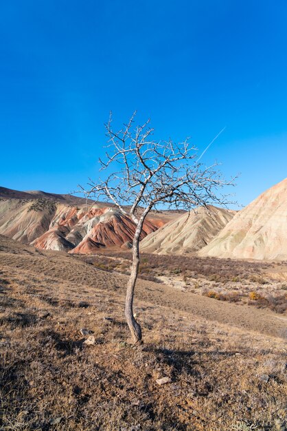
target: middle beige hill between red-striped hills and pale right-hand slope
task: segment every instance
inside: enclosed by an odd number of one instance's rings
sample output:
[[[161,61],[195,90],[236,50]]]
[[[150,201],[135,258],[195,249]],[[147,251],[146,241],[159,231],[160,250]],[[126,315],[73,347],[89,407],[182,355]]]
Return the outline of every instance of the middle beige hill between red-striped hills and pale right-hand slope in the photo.
[[[184,254],[194,253],[209,243],[233,218],[234,211],[209,206],[198,208],[165,224],[158,231],[141,241],[144,253]]]

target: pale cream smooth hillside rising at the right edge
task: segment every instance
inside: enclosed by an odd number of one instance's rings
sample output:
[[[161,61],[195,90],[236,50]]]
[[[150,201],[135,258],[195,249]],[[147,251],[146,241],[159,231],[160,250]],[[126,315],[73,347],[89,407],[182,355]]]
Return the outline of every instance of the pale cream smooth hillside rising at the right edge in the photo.
[[[287,178],[237,213],[198,254],[287,260]]]

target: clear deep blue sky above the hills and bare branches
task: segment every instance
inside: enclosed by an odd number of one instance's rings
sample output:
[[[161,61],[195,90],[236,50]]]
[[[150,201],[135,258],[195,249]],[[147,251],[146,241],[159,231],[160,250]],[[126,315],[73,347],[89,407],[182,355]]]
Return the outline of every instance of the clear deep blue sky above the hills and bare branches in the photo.
[[[248,204],[286,178],[287,2],[10,0],[0,6],[0,185],[97,177],[108,112],[192,136]]]

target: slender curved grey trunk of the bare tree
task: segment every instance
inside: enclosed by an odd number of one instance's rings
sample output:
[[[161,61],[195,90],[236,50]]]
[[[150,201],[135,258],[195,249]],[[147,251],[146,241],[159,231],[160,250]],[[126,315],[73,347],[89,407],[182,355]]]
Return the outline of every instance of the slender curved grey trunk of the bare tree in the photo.
[[[126,289],[126,322],[130,328],[130,333],[133,338],[134,344],[141,344],[141,326],[137,323],[133,315],[133,296],[135,291],[135,282],[137,281],[137,274],[139,272],[139,238],[143,227],[143,220],[137,224],[135,237],[133,239],[133,263],[130,266],[130,278]]]

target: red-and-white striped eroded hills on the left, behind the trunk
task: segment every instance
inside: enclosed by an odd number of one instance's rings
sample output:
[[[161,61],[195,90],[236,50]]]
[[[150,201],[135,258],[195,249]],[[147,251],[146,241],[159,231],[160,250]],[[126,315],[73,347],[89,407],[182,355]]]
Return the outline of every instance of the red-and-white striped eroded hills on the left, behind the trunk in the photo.
[[[141,238],[179,215],[151,213]],[[0,233],[38,249],[93,253],[128,247],[135,223],[111,204],[44,191],[0,188]]]

